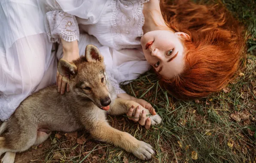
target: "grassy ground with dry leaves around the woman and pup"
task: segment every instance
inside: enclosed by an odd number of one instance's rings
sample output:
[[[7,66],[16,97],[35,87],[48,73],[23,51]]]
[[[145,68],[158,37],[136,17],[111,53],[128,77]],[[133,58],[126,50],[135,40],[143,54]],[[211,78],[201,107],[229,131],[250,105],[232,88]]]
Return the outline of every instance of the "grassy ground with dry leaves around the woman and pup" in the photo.
[[[202,3],[197,0],[197,3]],[[209,2],[207,2],[209,3]],[[149,101],[163,123],[146,130],[125,116],[108,117],[110,124],[148,142],[155,156],[148,162],[256,163],[256,2],[218,0],[246,26],[245,68],[222,91],[204,99],[177,101],[147,72],[123,88]],[[96,142],[78,133],[53,133],[43,144],[17,154],[26,162],[143,162],[113,145]]]

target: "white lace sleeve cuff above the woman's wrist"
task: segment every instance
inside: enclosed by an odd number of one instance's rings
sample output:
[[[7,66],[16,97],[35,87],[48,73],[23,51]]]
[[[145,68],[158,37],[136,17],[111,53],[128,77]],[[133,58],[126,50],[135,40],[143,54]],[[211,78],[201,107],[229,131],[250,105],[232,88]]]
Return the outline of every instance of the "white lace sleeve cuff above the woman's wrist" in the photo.
[[[79,28],[74,15],[63,11],[49,11],[45,17],[46,33],[50,42],[79,40]]]

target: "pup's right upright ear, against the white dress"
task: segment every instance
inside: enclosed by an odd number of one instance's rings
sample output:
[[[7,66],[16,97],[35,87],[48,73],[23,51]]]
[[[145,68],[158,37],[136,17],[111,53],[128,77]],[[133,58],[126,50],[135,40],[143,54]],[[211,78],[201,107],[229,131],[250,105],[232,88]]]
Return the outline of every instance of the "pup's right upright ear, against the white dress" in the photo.
[[[87,45],[85,48],[85,58],[88,62],[103,61],[100,50],[94,45]]]

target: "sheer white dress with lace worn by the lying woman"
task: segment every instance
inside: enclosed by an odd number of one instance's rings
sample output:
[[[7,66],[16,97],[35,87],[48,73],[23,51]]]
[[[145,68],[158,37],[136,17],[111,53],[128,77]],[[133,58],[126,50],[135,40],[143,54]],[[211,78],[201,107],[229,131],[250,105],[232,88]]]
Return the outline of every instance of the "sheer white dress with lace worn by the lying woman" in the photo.
[[[52,47],[60,37],[78,39],[80,55],[86,45],[98,46],[108,78],[117,94],[124,93],[120,82],[150,68],[140,45],[146,1],[0,0],[0,120],[27,96],[56,82],[62,48],[56,54]]]

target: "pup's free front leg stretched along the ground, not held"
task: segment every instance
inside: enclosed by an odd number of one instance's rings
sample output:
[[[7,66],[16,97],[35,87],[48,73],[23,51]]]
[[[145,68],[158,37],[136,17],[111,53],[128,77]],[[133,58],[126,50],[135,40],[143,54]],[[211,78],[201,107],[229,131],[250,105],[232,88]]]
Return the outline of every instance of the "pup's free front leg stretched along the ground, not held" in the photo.
[[[90,133],[93,138],[100,141],[113,143],[114,145],[133,153],[141,160],[151,159],[152,154],[155,153],[151,145],[137,140],[129,133],[116,130],[105,121],[98,122],[92,128],[93,130],[90,130]]]

